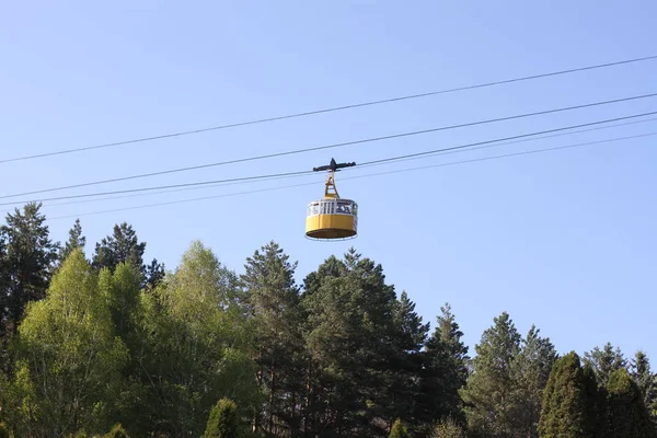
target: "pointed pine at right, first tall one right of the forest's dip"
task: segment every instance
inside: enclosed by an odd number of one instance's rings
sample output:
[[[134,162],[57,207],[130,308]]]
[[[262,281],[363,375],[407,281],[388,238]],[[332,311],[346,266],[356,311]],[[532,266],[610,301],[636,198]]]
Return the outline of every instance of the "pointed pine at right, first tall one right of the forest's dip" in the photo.
[[[461,391],[469,428],[486,437],[509,437],[518,424],[514,362],[521,336],[508,313],[495,318],[475,346],[474,372]]]

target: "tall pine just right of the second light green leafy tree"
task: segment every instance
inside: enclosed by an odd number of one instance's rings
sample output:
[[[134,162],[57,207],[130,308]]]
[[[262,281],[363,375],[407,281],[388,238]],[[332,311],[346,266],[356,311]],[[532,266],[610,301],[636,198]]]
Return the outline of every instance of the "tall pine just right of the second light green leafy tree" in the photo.
[[[299,288],[295,283],[297,263],[275,242],[246,260],[241,276],[244,302],[255,327],[257,381],[267,397],[263,419],[256,428],[273,434],[300,427],[299,405],[303,390],[303,339]],[[260,413],[258,413],[260,414]]]

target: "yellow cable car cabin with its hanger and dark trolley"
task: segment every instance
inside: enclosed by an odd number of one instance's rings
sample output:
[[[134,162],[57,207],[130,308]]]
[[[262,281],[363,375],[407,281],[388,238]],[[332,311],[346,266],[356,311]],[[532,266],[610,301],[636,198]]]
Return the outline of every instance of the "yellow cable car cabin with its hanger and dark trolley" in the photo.
[[[358,205],[351,199],[343,199],[335,187],[335,172],[356,163],[336,164],[313,169],[315,172],[328,170],[324,198],[308,205],[306,237],[313,240],[345,240],[355,238],[358,229]]]

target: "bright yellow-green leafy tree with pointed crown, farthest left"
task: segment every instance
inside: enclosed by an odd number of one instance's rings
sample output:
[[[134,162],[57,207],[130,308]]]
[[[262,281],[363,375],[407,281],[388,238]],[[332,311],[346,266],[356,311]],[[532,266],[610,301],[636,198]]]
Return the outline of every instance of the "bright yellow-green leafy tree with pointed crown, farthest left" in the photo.
[[[16,435],[51,437],[111,424],[128,351],[97,286],[76,249],[46,298],[27,306],[7,406]]]

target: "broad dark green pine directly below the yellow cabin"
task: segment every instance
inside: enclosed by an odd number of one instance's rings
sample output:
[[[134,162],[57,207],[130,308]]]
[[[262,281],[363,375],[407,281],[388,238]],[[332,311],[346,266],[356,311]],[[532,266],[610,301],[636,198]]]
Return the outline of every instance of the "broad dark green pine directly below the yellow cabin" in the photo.
[[[302,302],[310,355],[304,431],[384,437],[400,331],[394,287],[381,265],[354,250],[344,261],[332,256],[306,278]]]

